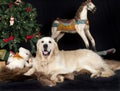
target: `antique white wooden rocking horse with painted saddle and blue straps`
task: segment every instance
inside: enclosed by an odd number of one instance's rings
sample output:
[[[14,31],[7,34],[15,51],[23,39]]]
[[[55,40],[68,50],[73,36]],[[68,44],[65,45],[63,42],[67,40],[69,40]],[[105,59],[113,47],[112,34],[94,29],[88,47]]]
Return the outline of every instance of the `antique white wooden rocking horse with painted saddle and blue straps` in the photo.
[[[93,13],[96,10],[96,7],[91,0],[87,0],[81,4],[73,19],[54,20],[51,27],[51,37],[58,42],[65,33],[78,33],[83,39],[86,48],[89,48],[89,39],[93,49],[95,50],[95,40],[89,31],[89,21],[87,18],[88,10]]]

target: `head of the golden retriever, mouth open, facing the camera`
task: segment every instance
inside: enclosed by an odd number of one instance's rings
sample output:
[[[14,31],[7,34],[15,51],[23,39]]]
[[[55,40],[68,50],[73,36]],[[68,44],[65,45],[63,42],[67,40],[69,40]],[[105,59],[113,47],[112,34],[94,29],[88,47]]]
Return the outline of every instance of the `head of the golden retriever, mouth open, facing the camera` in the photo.
[[[50,57],[58,53],[58,45],[51,37],[43,37],[37,42],[37,54],[42,57]]]

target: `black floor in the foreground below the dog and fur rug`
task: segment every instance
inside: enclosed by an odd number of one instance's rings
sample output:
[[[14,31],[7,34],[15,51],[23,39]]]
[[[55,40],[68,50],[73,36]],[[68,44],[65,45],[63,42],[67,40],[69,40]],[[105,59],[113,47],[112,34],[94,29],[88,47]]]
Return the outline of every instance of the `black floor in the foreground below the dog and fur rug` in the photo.
[[[0,82],[0,91],[120,91],[120,71],[110,78],[89,78],[80,75],[75,80],[65,80],[55,87],[43,87],[37,80]]]

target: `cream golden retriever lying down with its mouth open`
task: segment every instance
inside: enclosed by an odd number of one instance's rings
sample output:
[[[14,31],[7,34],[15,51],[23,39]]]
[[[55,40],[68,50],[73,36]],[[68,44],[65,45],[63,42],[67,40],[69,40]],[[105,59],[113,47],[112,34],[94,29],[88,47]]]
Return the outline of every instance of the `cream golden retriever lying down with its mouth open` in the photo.
[[[35,71],[44,72],[51,75],[51,80],[62,82],[64,76],[61,74],[80,72],[81,70],[89,71],[91,77],[110,77],[114,75],[110,67],[95,52],[88,49],[60,51],[54,39],[43,37],[37,42],[33,67],[25,75],[31,75]]]

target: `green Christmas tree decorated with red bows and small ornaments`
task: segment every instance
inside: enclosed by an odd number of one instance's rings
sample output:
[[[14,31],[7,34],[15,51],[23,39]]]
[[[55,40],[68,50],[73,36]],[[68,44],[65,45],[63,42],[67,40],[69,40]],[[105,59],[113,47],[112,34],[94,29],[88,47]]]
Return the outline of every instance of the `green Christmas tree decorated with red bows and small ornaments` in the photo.
[[[34,43],[40,38],[37,12],[30,3],[21,0],[0,0],[0,48],[18,51],[20,43]]]

